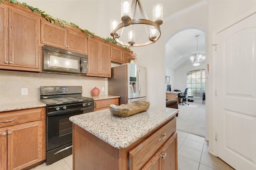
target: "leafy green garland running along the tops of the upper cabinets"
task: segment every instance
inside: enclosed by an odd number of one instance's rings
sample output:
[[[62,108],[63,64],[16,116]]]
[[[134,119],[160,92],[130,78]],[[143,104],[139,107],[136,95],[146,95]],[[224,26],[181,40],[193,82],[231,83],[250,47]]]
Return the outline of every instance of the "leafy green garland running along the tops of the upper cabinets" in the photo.
[[[13,4],[20,4],[20,5],[22,5],[22,6],[25,6],[25,7],[27,7],[28,9],[32,10],[34,13],[39,13],[43,18],[45,18],[46,20],[48,20],[48,21],[51,22],[52,24],[54,24],[54,23],[60,23],[60,26],[62,26],[62,27],[66,27],[66,24],[69,24],[69,25],[71,25],[72,27],[76,27],[77,29],[80,29],[81,31],[87,33],[87,37],[88,37],[88,38],[90,38],[91,35],[94,36],[94,37],[99,37],[99,36],[95,35],[95,33],[92,33],[92,32],[90,32],[90,31],[88,31],[87,29],[81,29],[78,25],[76,25],[76,24],[74,24],[74,23],[72,23],[72,22],[68,23],[68,22],[66,22],[66,21],[64,21],[64,20],[61,20],[61,19],[59,19],[59,18],[53,18],[52,16],[50,16],[50,15],[48,15],[48,14],[45,14],[44,11],[39,10],[38,8],[34,8],[34,7],[32,7],[32,6],[29,6],[28,4],[26,4],[26,2],[21,3],[21,2],[18,2],[18,0],[6,0],[6,1],[8,1],[8,2],[10,2],[10,3],[13,3]],[[4,2],[3,2],[2,0],[0,0],[0,4],[1,4],[1,3],[4,4]],[[100,38],[100,39],[103,39],[106,43],[113,43],[113,44],[116,44],[116,45],[117,45],[116,41],[114,41],[114,39],[112,39],[112,38],[110,38],[110,37],[107,37],[107,38],[99,37],[99,38]],[[119,45],[119,47],[122,48],[123,46],[122,46],[122,45]],[[127,50],[130,50],[130,47],[123,47],[123,48],[124,48],[126,51],[127,51]]]

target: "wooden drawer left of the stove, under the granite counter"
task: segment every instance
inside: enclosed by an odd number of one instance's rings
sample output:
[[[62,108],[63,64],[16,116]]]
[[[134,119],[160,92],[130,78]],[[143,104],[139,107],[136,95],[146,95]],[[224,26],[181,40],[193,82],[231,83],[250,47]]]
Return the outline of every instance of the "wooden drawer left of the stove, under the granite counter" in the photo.
[[[16,111],[4,111],[0,113],[0,127],[18,125],[42,119],[44,108],[22,109]],[[2,122],[7,121],[7,122]]]

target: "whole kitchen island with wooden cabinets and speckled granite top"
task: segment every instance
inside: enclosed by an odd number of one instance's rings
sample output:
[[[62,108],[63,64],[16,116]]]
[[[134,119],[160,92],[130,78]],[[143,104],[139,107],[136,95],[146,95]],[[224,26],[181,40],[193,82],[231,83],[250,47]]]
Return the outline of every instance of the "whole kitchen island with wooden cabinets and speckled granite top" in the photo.
[[[124,118],[109,109],[70,117],[73,170],[177,170],[176,113],[150,106]]]

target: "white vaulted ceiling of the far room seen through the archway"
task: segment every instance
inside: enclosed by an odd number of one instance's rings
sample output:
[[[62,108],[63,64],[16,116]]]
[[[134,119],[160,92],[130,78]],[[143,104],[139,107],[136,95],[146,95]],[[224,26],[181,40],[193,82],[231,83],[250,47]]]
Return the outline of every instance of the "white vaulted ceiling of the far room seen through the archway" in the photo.
[[[166,68],[176,70],[184,64],[191,64],[190,56],[195,56],[196,35],[198,53],[205,54],[205,33],[198,29],[186,29],[173,35],[166,43]]]

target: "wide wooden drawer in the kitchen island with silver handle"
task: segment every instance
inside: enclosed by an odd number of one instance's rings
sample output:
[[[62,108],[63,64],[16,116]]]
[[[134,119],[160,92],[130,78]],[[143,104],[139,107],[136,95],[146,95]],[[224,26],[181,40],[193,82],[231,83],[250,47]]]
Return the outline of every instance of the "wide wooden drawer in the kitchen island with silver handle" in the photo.
[[[166,123],[150,137],[128,152],[129,170],[141,169],[176,131],[176,118]]]

